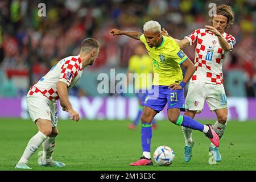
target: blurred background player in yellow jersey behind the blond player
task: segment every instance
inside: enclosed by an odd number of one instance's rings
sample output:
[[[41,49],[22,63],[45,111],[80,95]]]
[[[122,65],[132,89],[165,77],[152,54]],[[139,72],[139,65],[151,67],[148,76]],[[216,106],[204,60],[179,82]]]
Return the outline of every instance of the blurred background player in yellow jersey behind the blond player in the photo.
[[[134,130],[139,120],[141,119],[143,106],[141,102],[145,100],[148,94],[148,90],[152,85],[152,63],[150,56],[147,55],[146,50],[142,44],[135,47],[135,55],[129,59],[128,66],[128,82],[132,82],[134,79],[134,90],[139,102],[139,110],[137,117],[132,123],[129,123],[128,127]],[[156,128],[155,119],[152,119],[152,129]]]

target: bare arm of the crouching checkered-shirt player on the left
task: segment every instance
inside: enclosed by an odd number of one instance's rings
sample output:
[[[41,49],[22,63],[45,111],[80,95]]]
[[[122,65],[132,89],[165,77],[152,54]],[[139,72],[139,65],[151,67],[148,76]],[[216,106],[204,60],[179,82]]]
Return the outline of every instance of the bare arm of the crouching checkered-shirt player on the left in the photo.
[[[71,103],[68,100],[68,85],[65,84],[63,81],[57,82],[57,92],[60,97],[61,107],[63,110],[68,111],[70,115],[70,119],[79,121],[80,115],[75,110],[73,110]]]

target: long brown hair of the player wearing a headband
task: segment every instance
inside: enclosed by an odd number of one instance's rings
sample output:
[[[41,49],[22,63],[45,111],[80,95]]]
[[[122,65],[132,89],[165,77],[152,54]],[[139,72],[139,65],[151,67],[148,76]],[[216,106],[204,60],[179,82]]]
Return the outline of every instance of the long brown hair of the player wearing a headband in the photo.
[[[234,13],[232,11],[232,7],[230,7],[228,5],[218,5],[216,14],[226,16],[226,18],[228,19],[228,24],[227,24],[226,28],[229,28],[234,24]],[[213,17],[214,16],[212,16],[212,18],[210,18],[210,22],[212,22]]]

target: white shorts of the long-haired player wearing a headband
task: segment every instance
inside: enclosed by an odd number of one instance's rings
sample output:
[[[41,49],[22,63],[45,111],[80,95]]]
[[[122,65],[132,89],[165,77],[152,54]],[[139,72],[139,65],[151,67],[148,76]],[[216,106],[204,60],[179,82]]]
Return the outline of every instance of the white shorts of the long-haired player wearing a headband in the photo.
[[[207,101],[210,111],[228,109],[228,102],[223,85],[208,84],[205,82],[189,82],[185,108],[201,113],[204,109],[205,101]]]

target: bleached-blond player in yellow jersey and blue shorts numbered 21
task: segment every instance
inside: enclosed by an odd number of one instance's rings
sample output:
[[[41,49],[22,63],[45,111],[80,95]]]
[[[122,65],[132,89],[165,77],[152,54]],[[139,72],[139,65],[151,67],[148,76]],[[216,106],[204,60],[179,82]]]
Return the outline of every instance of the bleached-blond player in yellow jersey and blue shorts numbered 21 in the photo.
[[[181,51],[174,39],[161,35],[161,26],[158,22],[150,20],[143,26],[144,34],[135,31],[122,31],[114,28],[110,34],[126,35],[141,40],[146,46],[153,64],[154,80],[152,89],[142,102],[144,106],[141,117],[142,157],[130,166],[152,166],[150,146],[152,138],[152,119],[168,104],[168,119],[175,125],[189,127],[205,133],[210,141],[219,146],[218,135],[211,125],[203,125],[191,117],[180,115],[184,110],[184,86],[195,72],[195,66]],[[180,68],[183,65],[187,72],[183,78]]]

